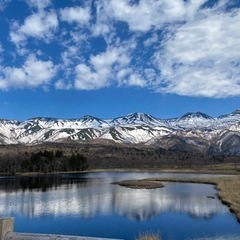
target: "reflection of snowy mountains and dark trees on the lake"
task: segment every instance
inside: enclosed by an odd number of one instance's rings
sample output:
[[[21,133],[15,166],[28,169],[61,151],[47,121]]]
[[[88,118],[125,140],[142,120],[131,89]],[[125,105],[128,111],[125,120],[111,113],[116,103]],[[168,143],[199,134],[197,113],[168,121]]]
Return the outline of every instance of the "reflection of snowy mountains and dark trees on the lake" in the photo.
[[[89,179],[84,175],[4,179],[0,181],[0,214],[84,218],[118,214],[143,221],[169,211],[197,218],[227,211],[218,199],[207,197],[215,194],[211,186],[199,185],[195,191],[192,184],[169,184],[162,189],[143,190],[111,185],[111,181],[115,179]]]

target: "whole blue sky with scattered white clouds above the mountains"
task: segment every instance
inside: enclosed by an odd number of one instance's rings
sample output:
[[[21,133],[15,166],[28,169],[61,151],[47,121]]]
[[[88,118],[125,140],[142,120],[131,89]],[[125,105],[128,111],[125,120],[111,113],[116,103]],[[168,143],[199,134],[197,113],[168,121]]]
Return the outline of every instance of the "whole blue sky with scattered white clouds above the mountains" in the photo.
[[[239,0],[0,0],[0,118],[238,108]]]

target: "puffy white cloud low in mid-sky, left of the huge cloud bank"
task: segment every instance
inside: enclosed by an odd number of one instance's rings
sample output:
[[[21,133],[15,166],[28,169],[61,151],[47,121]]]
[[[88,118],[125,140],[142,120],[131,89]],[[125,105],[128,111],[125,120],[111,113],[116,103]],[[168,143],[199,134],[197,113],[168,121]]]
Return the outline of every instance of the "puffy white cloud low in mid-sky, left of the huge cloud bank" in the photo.
[[[105,52],[91,56],[89,64],[79,64],[76,71],[76,89],[100,89],[108,86],[147,87],[148,80],[141,71],[129,67],[130,49],[125,47],[109,48]]]

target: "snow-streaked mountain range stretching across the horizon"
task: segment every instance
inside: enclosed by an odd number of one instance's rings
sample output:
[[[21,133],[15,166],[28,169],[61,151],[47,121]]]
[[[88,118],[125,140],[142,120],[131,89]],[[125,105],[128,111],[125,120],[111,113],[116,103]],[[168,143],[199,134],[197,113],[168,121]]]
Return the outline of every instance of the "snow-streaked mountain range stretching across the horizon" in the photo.
[[[113,119],[84,116],[79,119],[39,117],[23,122],[0,120],[1,144],[96,139],[240,155],[240,109],[218,118],[196,112],[173,119],[133,113]]]

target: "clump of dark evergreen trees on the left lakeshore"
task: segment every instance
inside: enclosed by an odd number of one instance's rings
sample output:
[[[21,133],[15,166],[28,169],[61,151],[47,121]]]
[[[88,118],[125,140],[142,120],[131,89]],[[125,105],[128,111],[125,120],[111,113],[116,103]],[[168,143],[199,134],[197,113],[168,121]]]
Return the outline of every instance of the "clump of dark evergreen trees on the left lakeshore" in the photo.
[[[26,152],[24,158],[20,159],[1,162],[0,172],[6,172],[6,174],[15,174],[16,172],[54,173],[88,169],[87,159],[82,154],[72,153],[67,156],[61,150]]]

